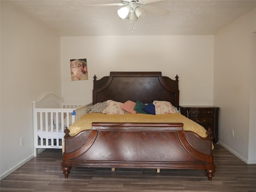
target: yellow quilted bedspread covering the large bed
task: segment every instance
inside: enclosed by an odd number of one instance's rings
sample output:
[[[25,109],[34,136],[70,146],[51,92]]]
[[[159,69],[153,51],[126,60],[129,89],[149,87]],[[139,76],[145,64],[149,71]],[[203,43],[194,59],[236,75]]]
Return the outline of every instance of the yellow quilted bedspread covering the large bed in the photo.
[[[79,120],[76,120],[74,124],[70,125],[70,127],[68,128],[70,130],[70,136],[74,136],[81,132],[82,130],[92,129],[92,122],[176,122],[184,124],[183,130],[193,131],[201,137],[207,137],[206,130],[202,126],[179,113],[161,115],[150,115],[140,113],[126,113],[123,115],[88,113],[82,116]]]

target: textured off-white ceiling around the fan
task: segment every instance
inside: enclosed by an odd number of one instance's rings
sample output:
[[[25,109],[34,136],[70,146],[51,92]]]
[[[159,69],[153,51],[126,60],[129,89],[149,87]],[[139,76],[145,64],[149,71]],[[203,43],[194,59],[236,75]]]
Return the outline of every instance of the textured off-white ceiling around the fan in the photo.
[[[60,36],[212,35],[256,7],[256,0],[162,0],[151,6],[167,16],[146,17],[132,24],[117,14],[120,6],[86,7],[121,0],[10,0],[22,12]]]

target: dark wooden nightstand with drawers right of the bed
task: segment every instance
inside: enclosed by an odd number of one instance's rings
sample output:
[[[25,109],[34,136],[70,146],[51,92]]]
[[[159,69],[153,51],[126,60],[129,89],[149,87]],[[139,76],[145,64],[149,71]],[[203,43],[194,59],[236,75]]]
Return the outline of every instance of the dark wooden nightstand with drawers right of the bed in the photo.
[[[202,125],[206,130],[212,131],[213,142],[218,141],[218,115],[216,106],[180,106],[180,113],[187,118]]]

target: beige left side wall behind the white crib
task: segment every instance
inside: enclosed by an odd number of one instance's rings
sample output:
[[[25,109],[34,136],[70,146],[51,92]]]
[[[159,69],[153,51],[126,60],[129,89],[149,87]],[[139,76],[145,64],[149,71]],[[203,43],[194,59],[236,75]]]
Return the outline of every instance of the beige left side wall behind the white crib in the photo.
[[[32,101],[49,92],[61,96],[61,78],[60,37],[8,1],[0,3],[2,177],[33,156]]]

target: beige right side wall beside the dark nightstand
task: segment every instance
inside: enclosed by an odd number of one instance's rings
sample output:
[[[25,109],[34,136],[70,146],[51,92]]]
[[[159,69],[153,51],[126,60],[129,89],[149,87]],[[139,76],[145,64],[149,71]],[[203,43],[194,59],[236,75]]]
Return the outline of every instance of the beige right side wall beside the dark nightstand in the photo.
[[[256,32],[256,9],[214,36],[213,101],[220,107],[219,140],[249,163],[256,163],[256,40],[253,32]]]

